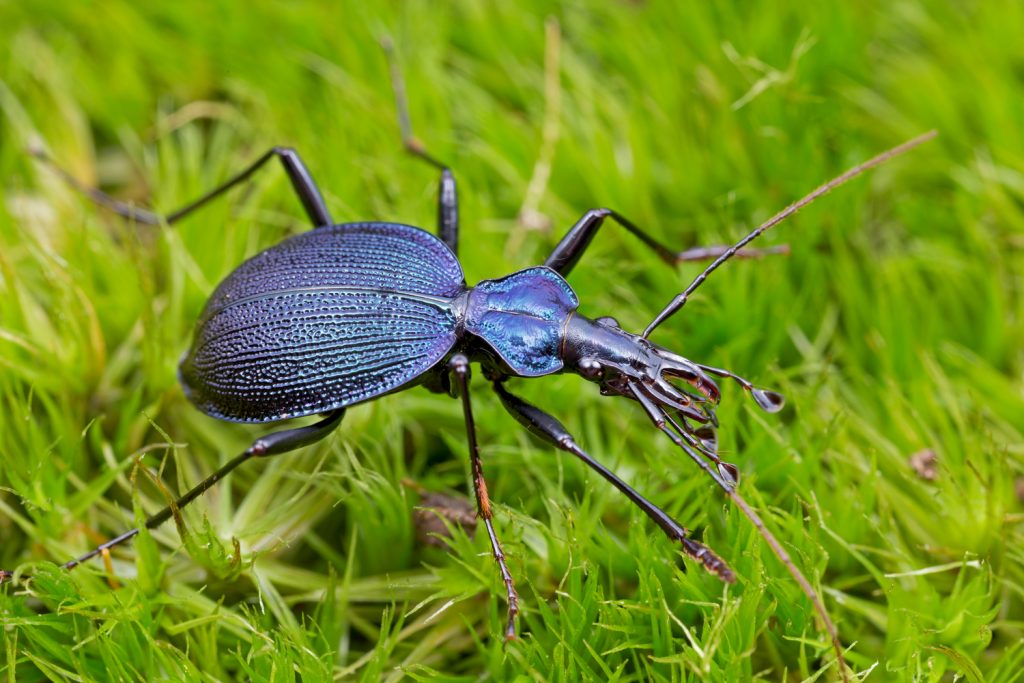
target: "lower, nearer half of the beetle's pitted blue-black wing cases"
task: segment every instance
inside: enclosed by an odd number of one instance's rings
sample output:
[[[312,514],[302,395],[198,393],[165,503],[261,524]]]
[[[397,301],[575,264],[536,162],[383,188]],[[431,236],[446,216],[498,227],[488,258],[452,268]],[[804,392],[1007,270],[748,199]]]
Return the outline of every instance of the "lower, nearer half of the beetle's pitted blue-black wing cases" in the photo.
[[[181,383],[203,412],[269,422],[357,403],[422,375],[455,344],[440,301],[373,290],[246,299],[198,330]]]

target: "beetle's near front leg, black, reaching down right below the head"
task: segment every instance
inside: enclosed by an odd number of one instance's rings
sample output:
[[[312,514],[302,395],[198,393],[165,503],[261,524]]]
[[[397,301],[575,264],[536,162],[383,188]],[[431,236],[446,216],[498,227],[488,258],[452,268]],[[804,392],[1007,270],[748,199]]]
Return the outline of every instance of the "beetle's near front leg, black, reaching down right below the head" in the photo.
[[[505,410],[527,430],[556,449],[571,453],[585,462],[588,467],[607,479],[611,485],[625,494],[638,508],[643,510],[644,514],[650,517],[665,531],[666,536],[680,543],[683,546],[683,551],[697,562],[700,562],[710,572],[730,584],[736,581],[736,574],[725,563],[725,560],[716,555],[708,546],[691,539],[690,532],[682,524],[669,516],[669,513],[648,501],[639,492],[615,476],[611,470],[594,460],[590,454],[577,444],[575,439],[572,438],[572,434],[558,420],[536,405],[527,403],[518,396],[509,393],[501,382],[495,382],[495,391],[498,392],[498,396],[502,399]]]

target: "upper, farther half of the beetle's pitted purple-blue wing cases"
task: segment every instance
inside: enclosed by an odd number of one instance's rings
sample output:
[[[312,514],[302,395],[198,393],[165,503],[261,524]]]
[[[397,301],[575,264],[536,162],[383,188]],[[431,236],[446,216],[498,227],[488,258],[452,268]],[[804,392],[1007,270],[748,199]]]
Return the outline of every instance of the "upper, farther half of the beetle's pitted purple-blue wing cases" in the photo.
[[[250,258],[217,287],[203,317],[248,296],[332,286],[454,297],[465,280],[455,254],[429,232],[400,223],[342,223]]]

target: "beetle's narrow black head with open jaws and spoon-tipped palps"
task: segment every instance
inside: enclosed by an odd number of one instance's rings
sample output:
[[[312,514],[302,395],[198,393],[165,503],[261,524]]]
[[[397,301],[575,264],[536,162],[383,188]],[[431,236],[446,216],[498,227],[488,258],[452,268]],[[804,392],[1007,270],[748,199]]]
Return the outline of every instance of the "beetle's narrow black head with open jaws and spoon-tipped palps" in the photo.
[[[712,376],[735,380],[768,413],[778,412],[784,402],[779,393],[626,332],[611,317],[573,315],[565,329],[562,360],[566,369],[598,384],[601,393],[637,400],[655,424],[670,423],[690,445],[725,467],[733,480],[737,474],[732,466],[717,456],[715,407],[721,392]]]

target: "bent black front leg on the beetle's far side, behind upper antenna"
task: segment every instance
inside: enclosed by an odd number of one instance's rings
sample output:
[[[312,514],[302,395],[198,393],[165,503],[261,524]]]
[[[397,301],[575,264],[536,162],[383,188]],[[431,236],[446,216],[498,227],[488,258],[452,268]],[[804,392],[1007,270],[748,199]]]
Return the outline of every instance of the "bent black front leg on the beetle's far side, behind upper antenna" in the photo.
[[[629,232],[633,233],[642,243],[647,245],[663,261],[669,265],[682,263],[683,261],[706,261],[716,259],[729,250],[727,246],[697,247],[686,249],[681,252],[669,249],[660,242],[650,237],[640,229],[633,221],[623,216],[617,211],[611,209],[591,209],[583,215],[575,225],[569,228],[562,241],[558,243],[551,256],[544,262],[544,265],[556,270],[563,278],[569,274],[572,267],[580,261],[583,253],[590,246],[591,241],[597,231],[604,224],[605,218],[610,218]],[[736,253],[737,257],[760,258],[766,254],[784,254],[790,251],[785,245],[780,247],[768,247],[767,249],[745,249]]]

